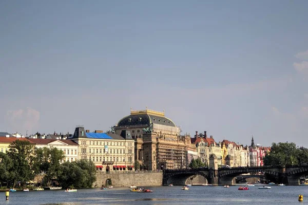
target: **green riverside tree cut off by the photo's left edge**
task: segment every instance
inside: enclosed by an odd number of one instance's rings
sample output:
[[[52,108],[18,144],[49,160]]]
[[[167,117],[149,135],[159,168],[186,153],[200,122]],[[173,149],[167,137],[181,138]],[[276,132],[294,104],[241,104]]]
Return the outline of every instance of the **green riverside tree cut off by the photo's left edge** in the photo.
[[[11,179],[10,170],[13,167],[13,161],[5,154],[0,152],[0,187],[3,182],[7,182]]]

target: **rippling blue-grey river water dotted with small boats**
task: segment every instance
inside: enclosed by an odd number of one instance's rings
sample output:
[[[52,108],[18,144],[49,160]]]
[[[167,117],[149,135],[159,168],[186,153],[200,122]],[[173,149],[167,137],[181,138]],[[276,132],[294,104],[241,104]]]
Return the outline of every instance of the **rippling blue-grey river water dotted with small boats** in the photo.
[[[194,186],[181,190],[181,186],[147,187],[152,193],[130,192],[129,188],[79,189],[77,192],[64,190],[44,190],[30,192],[10,192],[5,200],[5,192],[0,192],[0,204],[308,204],[308,187],[271,185],[271,190],[260,190],[256,185],[247,191],[239,191],[239,185],[224,188]],[[303,195],[303,202],[298,201]]]

